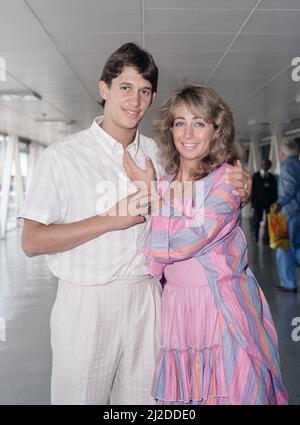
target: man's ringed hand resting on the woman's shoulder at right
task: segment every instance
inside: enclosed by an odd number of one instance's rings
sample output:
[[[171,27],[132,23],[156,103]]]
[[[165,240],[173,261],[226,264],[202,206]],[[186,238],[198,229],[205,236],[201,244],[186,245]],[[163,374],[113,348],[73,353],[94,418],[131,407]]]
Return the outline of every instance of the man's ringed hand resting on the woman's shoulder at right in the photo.
[[[237,161],[236,165],[231,166],[226,171],[228,173],[227,183],[237,188],[233,190],[233,194],[241,198],[242,204],[247,204],[252,191],[251,173],[242,166],[241,161]]]

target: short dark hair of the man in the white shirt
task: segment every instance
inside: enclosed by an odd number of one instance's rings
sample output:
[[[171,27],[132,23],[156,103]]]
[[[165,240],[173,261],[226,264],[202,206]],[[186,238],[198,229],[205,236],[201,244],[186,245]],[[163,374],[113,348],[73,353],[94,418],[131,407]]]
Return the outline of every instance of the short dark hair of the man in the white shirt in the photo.
[[[134,67],[145,80],[151,83],[152,92],[157,92],[158,68],[152,55],[131,42],[123,44],[110,55],[104,65],[100,81],[104,81],[110,87],[112,80],[121,74],[124,66]],[[105,100],[101,104],[104,106]]]

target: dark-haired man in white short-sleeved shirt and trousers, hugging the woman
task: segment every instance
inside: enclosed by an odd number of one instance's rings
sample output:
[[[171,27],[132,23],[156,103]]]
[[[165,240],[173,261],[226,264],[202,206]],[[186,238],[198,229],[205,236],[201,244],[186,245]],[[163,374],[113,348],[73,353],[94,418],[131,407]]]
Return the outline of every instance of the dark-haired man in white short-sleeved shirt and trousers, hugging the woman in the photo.
[[[53,404],[153,403],[161,288],[143,258],[148,194],[128,195],[122,164],[128,150],[142,167],[151,158],[161,175],[153,140],[137,131],[157,79],[152,56],[139,46],[114,52],[99,83],[104,116],[42,153],[20,213],[25,253],[50,254],[59,279],[51,313]],[[231,182],[247,200],[249,173],[233,167]]]

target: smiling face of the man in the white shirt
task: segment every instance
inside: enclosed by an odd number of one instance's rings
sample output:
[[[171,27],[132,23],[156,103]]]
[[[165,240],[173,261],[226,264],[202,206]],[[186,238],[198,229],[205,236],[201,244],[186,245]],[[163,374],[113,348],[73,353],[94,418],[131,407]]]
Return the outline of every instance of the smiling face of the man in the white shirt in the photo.
[[[105,100],[106,123],[124,130],[137,128],[154,97],[151,83],[131,66],[125,66],[110,87],[100,81],[99,89]]]

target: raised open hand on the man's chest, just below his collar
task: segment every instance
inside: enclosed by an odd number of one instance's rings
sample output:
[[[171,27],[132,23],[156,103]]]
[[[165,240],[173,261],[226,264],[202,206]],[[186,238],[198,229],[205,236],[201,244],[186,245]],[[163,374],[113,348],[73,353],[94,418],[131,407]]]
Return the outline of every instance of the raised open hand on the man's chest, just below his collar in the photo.
[[[123,166],[125,173],[138,189],[144,189],[145,186],[150,189],[151,182],[156,181],[155,170],[150,158],[146,158],[145,165],[146,169],[142,170],[133,161],[129,152],[124,151]],[[144,183],[143,187],[141,187],[141,182]]]

